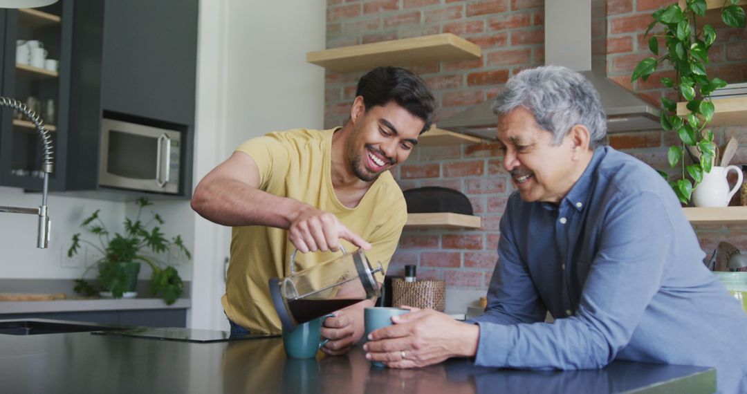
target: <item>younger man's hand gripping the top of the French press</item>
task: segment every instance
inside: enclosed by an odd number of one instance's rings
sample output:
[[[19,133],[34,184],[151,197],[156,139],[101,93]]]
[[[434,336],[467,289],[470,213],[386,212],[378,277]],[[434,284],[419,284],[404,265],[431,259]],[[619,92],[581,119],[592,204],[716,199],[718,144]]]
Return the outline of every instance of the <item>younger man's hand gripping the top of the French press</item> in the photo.
[[[343,225],[332,213],[310,205],[303,207],[291,221],[288,239],[301,253],[308,251],[337,251],[340,238],[368,250],[371,244]]]

